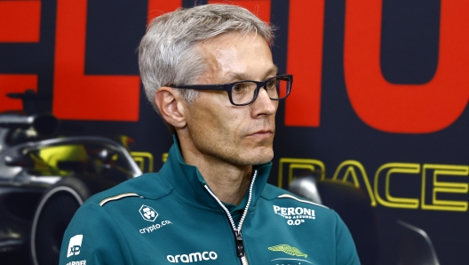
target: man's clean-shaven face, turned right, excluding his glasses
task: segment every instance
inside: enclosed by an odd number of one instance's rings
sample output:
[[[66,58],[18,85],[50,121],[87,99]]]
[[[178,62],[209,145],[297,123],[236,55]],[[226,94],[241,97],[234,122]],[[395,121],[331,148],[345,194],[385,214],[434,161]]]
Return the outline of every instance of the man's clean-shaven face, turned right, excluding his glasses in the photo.
[[[266,40],[255,34],[228,33],[198,46],[208,71],[197,84],[262,81],[277,74]],[[258,165],[274,157],[274,117],[278,101],[264,88],[248,106],[234,106],[227,92],[202,91],[187,108],[187,129],[196,152],[231,165]]]

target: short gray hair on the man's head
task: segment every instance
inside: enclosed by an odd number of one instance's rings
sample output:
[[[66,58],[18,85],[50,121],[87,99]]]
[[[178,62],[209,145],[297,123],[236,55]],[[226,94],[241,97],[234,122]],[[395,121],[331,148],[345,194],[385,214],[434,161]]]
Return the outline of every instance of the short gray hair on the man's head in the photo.
[[[145,93],[156,112],[155,92],[171,84],[193,84],[207,69],[196,44],[224,33],[256,33],[272,45],[274,28],[248,10],[230,4],[204,4],[159,16],[148,25],[139,45],[139,69]],[[187,104],[198,95],[179,90]]]

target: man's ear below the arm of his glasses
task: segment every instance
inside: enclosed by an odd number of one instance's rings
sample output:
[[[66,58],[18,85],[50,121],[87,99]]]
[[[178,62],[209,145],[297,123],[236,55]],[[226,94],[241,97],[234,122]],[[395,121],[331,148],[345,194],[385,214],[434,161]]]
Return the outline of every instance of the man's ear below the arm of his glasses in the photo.
[[[186,126],[186,116],[184,116],[186,101],[180,97],[179,92],[171,87],[160,87],[155,93],[155,103],[168,124],[175,128]]]

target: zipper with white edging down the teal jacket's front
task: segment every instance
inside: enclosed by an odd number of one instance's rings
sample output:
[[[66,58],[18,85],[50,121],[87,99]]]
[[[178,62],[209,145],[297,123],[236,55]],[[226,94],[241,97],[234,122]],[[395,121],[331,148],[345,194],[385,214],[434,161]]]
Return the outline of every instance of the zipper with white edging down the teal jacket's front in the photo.
[[[244,212],[242,212],[241,220],[238,224],[238,228],[236,229],[235,226],[235,221],[233,221],[233,217],[231,216],[231,213],[229,213],[227,207],[223,205],[223,203],[219,200],[219,198],[211,191],[209,186],[206,184],[203,186],[207,191],[211,194],[211,197],[213,197],[223,208],[225,213],[227,214],[227,218],[230,221],[231,224],[231,229],[233,231],[233,234],[235,235],[235,243],[236,243],[236,254],[241,260],[242,265],[248,265],[248,260],[246,259],[246,256],[244,255],[244,245],[242,244],[242,235],[241,235],[241,229],[242,229],[242,223],[244,222],[244,219],[246,218],[246,215],[248,214],[249,206],[250,206],[250,200],[252,198],[252,189],[254,187],[254,181],[256,181],[256,176],[258,175],[258,171],[255,170],[254,174],[252,175],[252,180],[250,181],[250,191],[249,191],[249,197],[248,197],[248,203],[246,204],[246,207],[244,208]]]

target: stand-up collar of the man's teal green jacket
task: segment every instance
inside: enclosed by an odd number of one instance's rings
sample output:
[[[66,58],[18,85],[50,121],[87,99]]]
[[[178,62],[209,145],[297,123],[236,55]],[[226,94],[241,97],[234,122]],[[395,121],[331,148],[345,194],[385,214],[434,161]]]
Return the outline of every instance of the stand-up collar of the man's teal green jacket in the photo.
[[[179,139],[176,134],[173,135],[174,144],[171,146],[168,154],[168,160],[164,163],[160,174],[169,182],[173,189],[175,189],[181,197],[195,203],[214,209],[219,209],[218,202],[211,197],[211,195],[204,188],[207,182],[203,179],[202,174],[196,166],[187,165],[184,162],[179,149]],[[251,207],[254,207],[260,197],[262,190],[266,186],[266,181],[270,173],[272,163],[269,162],[264,165],[254,165],[253,170],[258,171],[256,182],[252,192]],[[247,193],[247,192],[246,192]],[[245,197],[247,194],[245,195]],[[245,199],[243,200],[243,202]],[[244,202],[245,203],[245,202]],[[243,206],[243,205],[239,205]],[[238,207],[236,207],[238,208]]]

